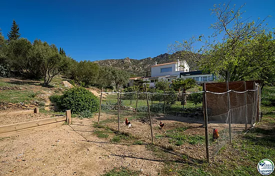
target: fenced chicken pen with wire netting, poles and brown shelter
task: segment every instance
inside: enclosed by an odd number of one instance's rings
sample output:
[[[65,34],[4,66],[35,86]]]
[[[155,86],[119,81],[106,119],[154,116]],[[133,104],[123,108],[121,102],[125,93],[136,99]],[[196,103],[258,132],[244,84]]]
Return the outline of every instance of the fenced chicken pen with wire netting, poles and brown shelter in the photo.
[[[101,91],[98,124],[209,161],[260,118],[259,81],[205,83],[202,91]],[[125,125],[125,118],[131,127]],[[160,121],[164,126],[160,126]],[[219,137],[212,139],[213,129]],[[188,149],[195,147],[196,150]]]

